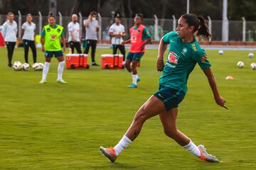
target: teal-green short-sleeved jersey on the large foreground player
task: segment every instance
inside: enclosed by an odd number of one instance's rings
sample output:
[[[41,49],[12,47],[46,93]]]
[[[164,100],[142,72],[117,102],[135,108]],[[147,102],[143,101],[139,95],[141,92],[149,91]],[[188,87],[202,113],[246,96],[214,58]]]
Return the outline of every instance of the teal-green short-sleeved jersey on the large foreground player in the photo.
[[[169,44],[169,53],[163,73],[159,79],[161,86],[181,90],[186,94],[189,74],[196,63],[201,69],[211,66],[196,39],[193,42],[183,42],[176,31],[171,31],[163,37],[164,44]]]

